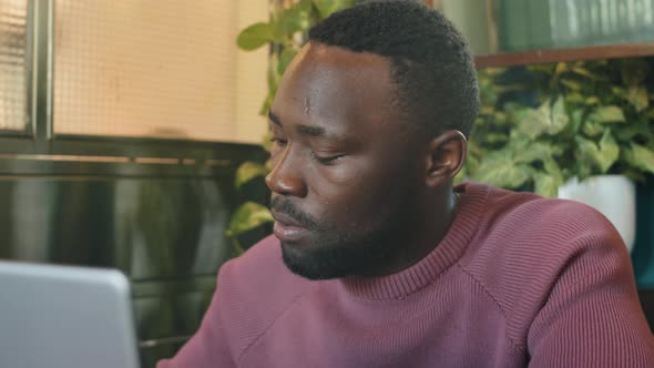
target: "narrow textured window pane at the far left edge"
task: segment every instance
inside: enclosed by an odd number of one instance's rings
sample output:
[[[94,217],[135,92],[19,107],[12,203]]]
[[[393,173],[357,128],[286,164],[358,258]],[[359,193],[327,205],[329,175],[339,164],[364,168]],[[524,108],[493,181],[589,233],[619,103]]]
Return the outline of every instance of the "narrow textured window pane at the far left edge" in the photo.
[[[0,131],[25,129],[27,0],[0,0]]]

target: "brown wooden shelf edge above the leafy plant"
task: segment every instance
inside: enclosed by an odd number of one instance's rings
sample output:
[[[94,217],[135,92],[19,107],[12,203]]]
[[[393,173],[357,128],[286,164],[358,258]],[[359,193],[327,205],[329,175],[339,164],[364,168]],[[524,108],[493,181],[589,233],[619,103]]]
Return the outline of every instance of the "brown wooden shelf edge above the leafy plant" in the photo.
[[[654,57],[654,42],[622,43],[576,49],[499,53],[474,58],[477,69],[571,62],[580,60]]]

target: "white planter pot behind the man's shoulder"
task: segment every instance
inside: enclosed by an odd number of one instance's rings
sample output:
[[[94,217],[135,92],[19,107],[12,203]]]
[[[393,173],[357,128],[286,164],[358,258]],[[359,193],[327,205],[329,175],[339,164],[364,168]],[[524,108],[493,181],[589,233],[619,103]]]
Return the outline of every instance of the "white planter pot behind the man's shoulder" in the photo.
[[[585,203],[601,212],[632,251],[636,236],[636,187],[630,178],[597,175],[579,183],[573,177],[559,187],[559,197]]]

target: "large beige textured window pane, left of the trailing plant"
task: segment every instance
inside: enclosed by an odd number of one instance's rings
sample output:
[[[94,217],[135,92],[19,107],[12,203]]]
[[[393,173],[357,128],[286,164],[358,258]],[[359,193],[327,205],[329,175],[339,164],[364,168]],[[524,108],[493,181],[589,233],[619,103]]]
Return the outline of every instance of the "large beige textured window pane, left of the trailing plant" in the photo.
[[[237,12],[236,1],[55,1],[54,133],[229,140]]]

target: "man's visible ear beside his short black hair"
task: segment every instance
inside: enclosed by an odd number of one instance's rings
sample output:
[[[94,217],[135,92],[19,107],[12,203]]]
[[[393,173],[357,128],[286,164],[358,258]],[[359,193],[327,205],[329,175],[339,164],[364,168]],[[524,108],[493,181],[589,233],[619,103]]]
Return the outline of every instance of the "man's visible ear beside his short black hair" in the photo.
[[[428,144],[426,183],[437,187],[452,180],[466,161],[468,141],[459,131],[444,131]]]

